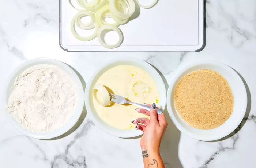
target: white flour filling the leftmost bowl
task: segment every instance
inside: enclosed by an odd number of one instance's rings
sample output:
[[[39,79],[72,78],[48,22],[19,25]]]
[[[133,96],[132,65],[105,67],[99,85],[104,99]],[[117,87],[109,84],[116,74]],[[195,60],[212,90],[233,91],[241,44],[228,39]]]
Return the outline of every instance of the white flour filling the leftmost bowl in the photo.
[[[44,133],[63,127],[75,112],[74,80],[56,65],[39,64],[18,76],[8,111],[27,130]]]

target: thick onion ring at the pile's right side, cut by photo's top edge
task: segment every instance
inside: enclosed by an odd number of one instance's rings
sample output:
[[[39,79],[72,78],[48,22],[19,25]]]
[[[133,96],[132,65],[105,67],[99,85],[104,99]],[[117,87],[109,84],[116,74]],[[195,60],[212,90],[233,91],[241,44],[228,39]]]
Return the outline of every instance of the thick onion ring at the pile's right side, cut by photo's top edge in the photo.
[[[113,16],[120,18],[120,19],[128,19],[129,17],[132,16],[132,14],[135,11],[135,3],[133,0],[126,0],[125,1],[128,5],[128,13],[122,13],[120,11],[118,11],[118,9],[116,8],[116,0],[109,0],[109,8],[110,8],[110,12],[113,14]]]

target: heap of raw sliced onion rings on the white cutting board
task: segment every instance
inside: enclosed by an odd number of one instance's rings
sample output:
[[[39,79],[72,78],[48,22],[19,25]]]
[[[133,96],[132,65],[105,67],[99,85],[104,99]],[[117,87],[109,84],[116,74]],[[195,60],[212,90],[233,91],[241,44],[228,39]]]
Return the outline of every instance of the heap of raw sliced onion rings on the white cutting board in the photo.
[[[73,8],[79,12],[71,20],[71,32],[81,41],[93,40],[98,37],[99,43],[105,48],[116,48],[121,45],[123,41],[123,33],[118,28],[119,25],[128,22],[129,18],[135,12],[135,2],[142,8],[153,7],[158,0],[155,0],[150,5],[142,5],[139,0],[68,0]],[[76,1],[76,5],[73,4]],[[78,8],[78,7],[79,8]],[[89,16],[90,23],[83,23],[81,19]],[[107,23],[104,18],[112,18],[114,23]],[[75,25],[84,30],[94,29],[93,33],[89,36],[80,36],[76,32]],[[115,31],[119,40],[116,44],[106,44],[103,36],[103,31]]]

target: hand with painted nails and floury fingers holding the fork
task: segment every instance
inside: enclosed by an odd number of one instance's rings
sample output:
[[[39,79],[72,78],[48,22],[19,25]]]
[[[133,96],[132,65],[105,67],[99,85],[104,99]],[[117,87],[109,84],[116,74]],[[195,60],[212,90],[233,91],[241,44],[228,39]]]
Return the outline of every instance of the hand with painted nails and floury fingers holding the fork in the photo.
[[[136,109],[136,111],[150,116],[150,120],[147,118],[138,118],[133,120],[132,123],[136,124],[135,129],[140,129],[144,133],[140,139],[142,151],[147,151],[147,153],[159,153],[160,143],[168,123],[163,113],[161,115],[157,114],[155,103],[146,105],[151,106],[150,111],[145,109]]]

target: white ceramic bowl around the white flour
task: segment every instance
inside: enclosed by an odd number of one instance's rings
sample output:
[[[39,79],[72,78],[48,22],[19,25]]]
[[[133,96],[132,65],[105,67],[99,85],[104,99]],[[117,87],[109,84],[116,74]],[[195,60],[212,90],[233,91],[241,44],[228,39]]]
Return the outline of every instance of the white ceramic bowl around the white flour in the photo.
[[[71,119],[68,121],[68,123],[64,127],[61,127],[59,129],[56,129],[54,131],[50,131],[47,133],[35,133],[35,132],[31,132],[31,131],[24,129],[11,116],[11,114],[6,109],[7,103],[8,103],[8,97],[11,93],[11,87],[13,86],[16,77],[19,76],[27,68],[29,68],[33,65],[37,65],[37,64],[53,64],[53,65],[57,65],[58,67],[64,69],[65,72],[67,72],[72,77],[72,79],[74,79],[76,88],[77,88],[77,93],[78,93],[76,111],[75,111],[74,115],[71,117]],[[84,105],[84,91],[83,91],[83,86],[82,86],[82,83],[81,83],[79,77],[76,75],[76,73],[73,71],[73,69],[70,68],[67,64],[65,64],[61,61],[53,60],[53,59],[44,59],[44,58],[31,59],[29,61],[26,61],[26,62],[20,64],[18,67],[16,67],[16,69],[14,71],[11,72],[8,80],[6,81],[6,84],[5,84],[5,87],[3,90],[4,113],[7,116],[10,123],[18,131],[22,132],[23,134],[30,136],[30,137],[37,138],[37,139],[50,139],[50,138],[54,138],[54,137],[63,135],[65,132],[67,132],[69,129],[71,129],[75,125],[75,123],[78,121],[80,115],[82,114],[83,105]]]

